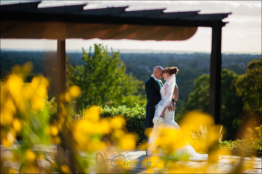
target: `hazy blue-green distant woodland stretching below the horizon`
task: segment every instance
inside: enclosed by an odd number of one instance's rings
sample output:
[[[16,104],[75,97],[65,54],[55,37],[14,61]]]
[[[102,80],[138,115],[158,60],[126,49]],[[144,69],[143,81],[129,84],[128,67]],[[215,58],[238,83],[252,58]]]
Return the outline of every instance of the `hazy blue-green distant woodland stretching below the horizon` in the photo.
[[[87,50],[88,52],[88,50]],[[56,67],[56,52],[41,51],[7,51],[1,50],[1,79],[10,74],[11,68],[18,64],[22,65],[26,61],[33,63],[33,71],[28,77],[28,81],[34,75],[43,74],[51,76]],[[210,73],[210,54],[176,54],[176,53],[120,53],[121,60],[126,66],[126,73],[132,73],[133,77],[145,82],[153,73],[155,66],[163,68],[176,66],[179,69],[177,74],[177,84],[179,88],[179,101],[176,104],[176,114],[179,115],[181,106],[187,102],[188,95],[193,91],[194,80],[203,74]],[[81,59],[81,52],[67,52],[68,62],[75,65],[81,65],[84,61]],[[260,59],[261,55],[250,54],[222,54],[222,68],[233,70],[236,74],[245,74],[248,62],[253,59]],[[50,66],[52,65],[52,66]],[[144,86],[144,83],[143,83]],[[146,97],[144,87],[139,90],[140,94]]]

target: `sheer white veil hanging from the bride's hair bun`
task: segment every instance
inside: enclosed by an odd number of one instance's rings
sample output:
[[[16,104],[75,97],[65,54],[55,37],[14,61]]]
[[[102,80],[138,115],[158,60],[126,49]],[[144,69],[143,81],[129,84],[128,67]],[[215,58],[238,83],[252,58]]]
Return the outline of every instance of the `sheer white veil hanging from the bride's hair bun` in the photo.
[[[171,104],[171,99],[174,93],[174,89],[176,86],[176,75],[172,74],[169,76],[167,81],[164,83],[164,86],[160,90],[164,90],[164,96],[160,102],[155,105],[155,116],[160,116],[162,111],[166,106]]]

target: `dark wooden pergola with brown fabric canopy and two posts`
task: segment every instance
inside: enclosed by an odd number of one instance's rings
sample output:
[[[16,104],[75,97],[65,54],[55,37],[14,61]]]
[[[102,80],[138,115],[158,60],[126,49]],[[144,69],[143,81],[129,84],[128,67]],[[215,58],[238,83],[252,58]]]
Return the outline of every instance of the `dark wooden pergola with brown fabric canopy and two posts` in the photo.
[[[125,11],[128,6],[84,10],[87,4],[38,8],[39,3],[1,5],[1,38],[56,39],[58,95],[65,91],[66,39],[178,41],[192,37],[198,27],[211,27],[209,113],[219,123],[221,35],[227,23],[222,19],[231,13]]]

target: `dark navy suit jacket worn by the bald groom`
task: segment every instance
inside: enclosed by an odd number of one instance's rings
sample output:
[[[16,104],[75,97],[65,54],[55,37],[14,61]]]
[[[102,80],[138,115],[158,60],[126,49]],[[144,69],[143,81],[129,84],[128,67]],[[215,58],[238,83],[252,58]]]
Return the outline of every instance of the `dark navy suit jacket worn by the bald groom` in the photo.
[[[155,116],[155,105],[161,100],[160,86],[153,77],[150,77],[145,84],[146,89],[146,128],[153,127],[153,118]]]

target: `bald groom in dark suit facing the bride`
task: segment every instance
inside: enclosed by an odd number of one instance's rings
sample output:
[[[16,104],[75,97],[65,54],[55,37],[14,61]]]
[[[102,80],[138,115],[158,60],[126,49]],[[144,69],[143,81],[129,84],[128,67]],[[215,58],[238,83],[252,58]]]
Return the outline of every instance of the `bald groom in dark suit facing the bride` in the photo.
[[[161,100],[160,88],[163,86],[160,78],[163,77],[163,68],[161,66],[156,66],[153,69],[153,74],[146,81],[146,141],[148,142],[148,138],[152,132],[153,118],[155,116],[155,105],[158,104]],[[160,81],[159,81],[160,80]],[[151,128],[151,129],[150,129]]]

